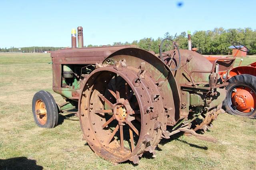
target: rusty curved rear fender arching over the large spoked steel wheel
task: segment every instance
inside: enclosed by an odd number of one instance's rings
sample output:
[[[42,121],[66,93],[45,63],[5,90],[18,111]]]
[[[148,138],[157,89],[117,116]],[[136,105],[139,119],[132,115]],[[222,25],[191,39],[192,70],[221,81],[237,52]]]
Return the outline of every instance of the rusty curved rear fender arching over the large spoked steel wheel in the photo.
[[[120,49],[109,55],[102,64],[114,65],[121,59],[126,60],[127,66],[135,68],[140,68],[142,62],[145,63],[145,70],[156,82],[155,85],[161,85],[160,91],[157,93],[160,94],[161,101],[168,114],[168,123],[169,125],[175,125],[180,118],[180,94],[170,68],[160,58],[140,48]],[[110,60],[111,63],[109,62]]]

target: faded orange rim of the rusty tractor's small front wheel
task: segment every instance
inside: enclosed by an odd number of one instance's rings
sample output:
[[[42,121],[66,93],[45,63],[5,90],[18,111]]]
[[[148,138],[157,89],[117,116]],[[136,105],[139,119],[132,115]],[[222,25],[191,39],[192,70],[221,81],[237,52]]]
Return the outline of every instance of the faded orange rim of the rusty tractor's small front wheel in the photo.
[[[41,100],[36,101],[35,109],[38,122],[44,125],[47,120],[47,111],[44,102]]]

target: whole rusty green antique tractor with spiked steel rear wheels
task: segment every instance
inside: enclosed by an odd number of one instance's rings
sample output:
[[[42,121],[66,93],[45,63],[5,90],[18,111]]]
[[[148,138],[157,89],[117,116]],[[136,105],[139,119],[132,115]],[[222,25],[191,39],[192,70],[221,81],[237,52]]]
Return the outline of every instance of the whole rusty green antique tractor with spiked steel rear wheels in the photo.
[[[194,51],[173,49],[160,55],[135,45],[83,47],[82,28],[72,32],[72,48],[51,53],[52,95],[34,95],[32,111],[40,127],[54,127],[58,113],[76,113],[90,148],[111,162],[139,162],[144,152],[155,156],[162,138],[178,132],[216,142],[200,134],[222,112],[226,79],[234,59],[210,63]],[[164,39],[166,40],[166,39]],[[163,41],[164,41],[163,40]]]

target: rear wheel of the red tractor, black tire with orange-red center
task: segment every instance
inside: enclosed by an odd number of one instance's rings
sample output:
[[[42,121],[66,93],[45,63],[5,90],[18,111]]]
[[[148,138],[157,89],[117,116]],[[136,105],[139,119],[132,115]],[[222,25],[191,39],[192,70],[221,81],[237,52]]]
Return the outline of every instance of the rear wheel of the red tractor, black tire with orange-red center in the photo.
[[[229,79],[227,97],[223,107],[230,115],[256,117],[256,77],[250,74],[236,75]]]

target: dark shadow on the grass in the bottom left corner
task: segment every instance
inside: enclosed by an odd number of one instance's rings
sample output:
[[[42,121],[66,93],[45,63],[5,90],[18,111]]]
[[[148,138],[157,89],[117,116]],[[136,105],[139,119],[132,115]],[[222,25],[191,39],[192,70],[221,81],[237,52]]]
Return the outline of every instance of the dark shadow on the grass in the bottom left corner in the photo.
[[[36,160],[26,157],[0,159],[1,170],[42,170],[43,167],[36,164]]]

